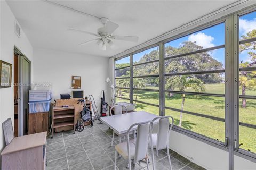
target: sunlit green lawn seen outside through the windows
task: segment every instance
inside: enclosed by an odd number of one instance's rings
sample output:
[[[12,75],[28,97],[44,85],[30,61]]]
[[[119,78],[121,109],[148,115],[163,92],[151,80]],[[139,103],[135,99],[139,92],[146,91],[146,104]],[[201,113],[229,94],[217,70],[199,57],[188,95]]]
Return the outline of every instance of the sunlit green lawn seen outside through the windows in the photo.
[[[188,91],[192,91],[188,89]],[[223,94],[224,84],[206,84],[205,92]],[[255,95],[256,91],[246,91],[246,95]],[[123,90],[122,97],[129,98],[126,90]],[[159,104],[159,93],[151,91],[134,90],[133,99],[145,101],[151,104]],[[116,101],[125,101],[116,98]],[[128,100],[127,100],[128,101]],[[165,106],[181,109],[182,96],[180,94],[165,94]],[[243,123],[250,123],[256,125],[256,100],[246,99],[246,108],[239,106],[239,121]],[[159,108],[155,106],[136,103],[136,110],[144,110],[150,113],[159,114]],[[185,111],[211,115],[215,117],[225,118],[225,99],[223,97],[211,96],[198,96],[186,95],[185,96]],[[174,118],[174,124],[179,125],[180,112],[170,111],[165,109],[165,115],[171,115]],[[199,134],[206,135],[207,137],[225,140],[225,123],[220,121],[211,120],[209,118],[194,116],[190,114],[182,114],[182,127]],[[256,152],[256,129],[247,128],[244,126],[239,127],[239,143],[243,143],[241,148]]]

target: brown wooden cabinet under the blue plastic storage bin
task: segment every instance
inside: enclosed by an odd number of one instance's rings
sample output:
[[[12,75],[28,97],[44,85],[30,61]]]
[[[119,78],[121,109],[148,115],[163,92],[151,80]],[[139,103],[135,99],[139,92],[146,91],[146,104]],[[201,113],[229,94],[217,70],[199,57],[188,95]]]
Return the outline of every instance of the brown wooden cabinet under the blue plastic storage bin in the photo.
[[[28,134],[48,131],[48,112],[28,114]]]

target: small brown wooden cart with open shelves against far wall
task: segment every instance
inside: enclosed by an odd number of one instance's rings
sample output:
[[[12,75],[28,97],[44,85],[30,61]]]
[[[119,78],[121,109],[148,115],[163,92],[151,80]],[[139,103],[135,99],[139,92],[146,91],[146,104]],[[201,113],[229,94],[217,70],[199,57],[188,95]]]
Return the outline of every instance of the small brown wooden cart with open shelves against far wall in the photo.
[[[72,126],[75,133],[75,107],[70,105],[69,107],[55,106],[52,110],[52,137],[54,134],[54,128],[60,128],[65,126]]]

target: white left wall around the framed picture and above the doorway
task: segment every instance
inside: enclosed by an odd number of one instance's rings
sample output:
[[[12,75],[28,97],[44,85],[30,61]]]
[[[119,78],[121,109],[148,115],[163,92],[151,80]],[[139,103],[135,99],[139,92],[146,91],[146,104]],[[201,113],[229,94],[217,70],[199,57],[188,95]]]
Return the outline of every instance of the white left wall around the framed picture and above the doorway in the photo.
[[[33,48],[22,30],[20,38],[15,35],[14,23],[15,17],[9,6],[5,1],[0,1],[0,60],[13,64],[13,48],[15,45],[30,61],[33,61]],[[14,121],[13,100],[13,86],[0,89],[0,151],[5,146],[2,123],[10,117]]]

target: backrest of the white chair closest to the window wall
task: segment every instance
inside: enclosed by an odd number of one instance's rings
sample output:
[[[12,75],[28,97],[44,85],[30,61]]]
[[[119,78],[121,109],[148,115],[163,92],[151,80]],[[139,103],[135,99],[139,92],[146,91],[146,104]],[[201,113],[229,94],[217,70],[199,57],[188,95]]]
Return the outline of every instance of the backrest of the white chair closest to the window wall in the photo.
[[[170,126],[169,118],[172,119],[171,126]],[[174,120],[171,116],[161,116],[161,117],[154,118],[152,122],[156,120],[159,120],[156,150],[161,150],[161,149],[165,149],[167,145],[169,145],[169,138],[170,138],[170,133],[172,130]]]

